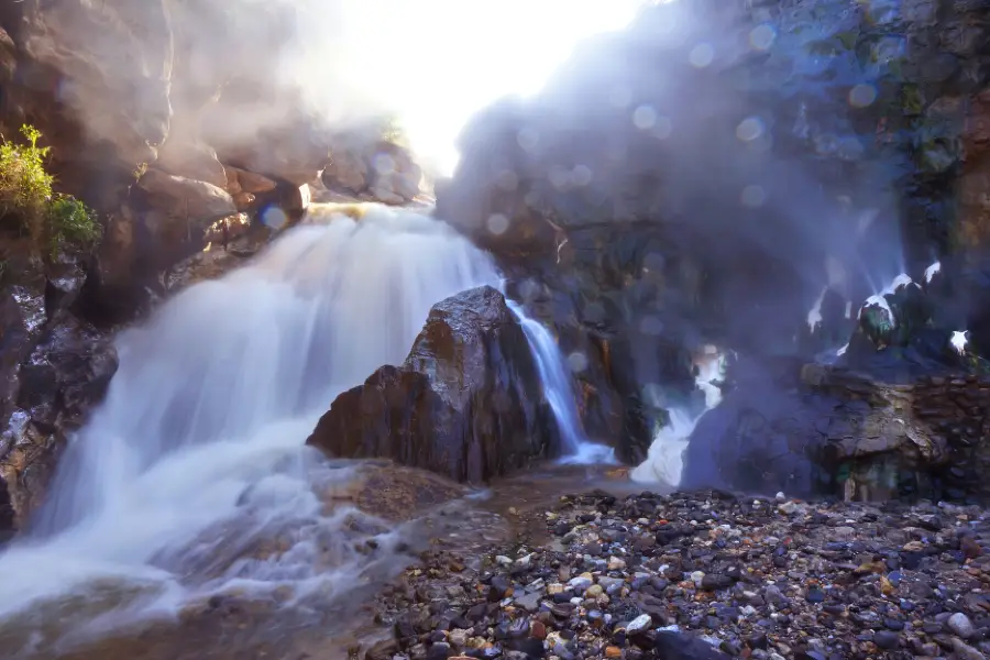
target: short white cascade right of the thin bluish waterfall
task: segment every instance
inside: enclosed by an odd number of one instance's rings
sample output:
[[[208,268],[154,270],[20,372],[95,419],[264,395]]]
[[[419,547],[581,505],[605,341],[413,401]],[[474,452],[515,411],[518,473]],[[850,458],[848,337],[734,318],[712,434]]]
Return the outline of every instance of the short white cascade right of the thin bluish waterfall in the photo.
[[[713,349],[713,346],[706,346]],[[695,360],[698,367],[695,385],[705,394],[705,409],[700,415],[689,410],[671,408],[670,424],[658,429],[647,452],[647,459],[632,470],[629,477],[638,483],[661,483],[670,487],[681,484],[684,471],[684,450],[691,433],[702,416],[722,403],[722,391],[713,384],[725,375],[725,356],[706,350]]]

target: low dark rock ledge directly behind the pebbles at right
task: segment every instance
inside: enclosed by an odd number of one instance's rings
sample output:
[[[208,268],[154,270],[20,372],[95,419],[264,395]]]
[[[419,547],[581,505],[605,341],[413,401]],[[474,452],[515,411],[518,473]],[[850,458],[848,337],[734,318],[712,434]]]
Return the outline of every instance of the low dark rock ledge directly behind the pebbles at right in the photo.
[[[986,499],[990,378],[881,381],[843,366],[735,365],[701,418],[682,484],[800,497]]]

